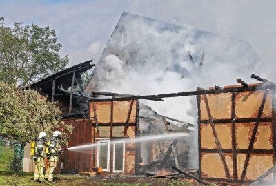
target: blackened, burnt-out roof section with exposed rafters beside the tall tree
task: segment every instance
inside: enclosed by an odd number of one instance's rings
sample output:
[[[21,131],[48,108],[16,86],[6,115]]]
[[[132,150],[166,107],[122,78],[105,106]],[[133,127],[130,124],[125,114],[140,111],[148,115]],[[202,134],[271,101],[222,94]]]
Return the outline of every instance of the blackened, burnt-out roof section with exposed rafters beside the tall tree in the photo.
[[[27,85],[25,88],[30,87],[42,95],[48,95],[49,101],[58,101],[61,116],[87,114],[88,100],[91,97],[84,92],[83,87],[90,77],[89,70],[94,66],[92,60],[79,63]]]

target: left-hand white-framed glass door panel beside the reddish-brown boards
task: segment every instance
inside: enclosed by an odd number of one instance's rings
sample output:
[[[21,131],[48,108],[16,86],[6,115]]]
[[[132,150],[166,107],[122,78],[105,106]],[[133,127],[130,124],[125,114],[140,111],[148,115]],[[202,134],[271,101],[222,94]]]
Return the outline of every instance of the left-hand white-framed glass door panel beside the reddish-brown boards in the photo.
[[[110,140],[99,139],[97,165],[98,167],[101,167],[103,171],[109,172],[109,161],[110,161]]]

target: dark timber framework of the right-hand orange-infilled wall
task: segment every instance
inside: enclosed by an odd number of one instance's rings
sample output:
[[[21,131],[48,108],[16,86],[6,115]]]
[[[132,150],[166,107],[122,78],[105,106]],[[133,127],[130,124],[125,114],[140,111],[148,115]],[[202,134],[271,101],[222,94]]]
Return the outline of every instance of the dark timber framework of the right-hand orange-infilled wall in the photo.
[[[209,115],[209,120],[202,120],[201,119],[201,109],[200,109],[200,96],[203,95],[204,96],[204,101],[206,103],[207,99],[206,99],[206,94],[199,94],[197,95],[197,107],[198,107],[198,142],[199,142],[199,172],[201,172],[201,153],[219,153],[221,154],[221,161],[224,163],[224,171],[226,172],[226,176],[228,177],[228,181],[230,182],[239,182],[239,183],[252,183],[253,181],[249,181],[249,180],[244,180],[245,176],[246,176],[246,170],[248,168],[248,161],[250,158],[250,154],[254,153],[254,154],[273,154],[273,167],[275,167],[276,163],[275,163],[275,158],[276,158],[276,154],[275,154],[275,140],[276,140],[276,133],[275,133],[275,114],[276,114],[276,107],[275,107],[275,96],[272,96],[272,117],[262,117],[262,112],[264,109],[264,104],[266,103],[266,97],[268,96],[268,93],[275,95],[275,84],[274,83],[269,83],[266,84],[267,81],[265,83],[259,84],[259,85],[249,85],[248,87],[239,87],[239,88],[224,88],[224,91],[217,91],[218,93],[221,92],[231,92],[232,96],[231,96],[231,118],[230,119],[215,119],[213,120],[213,118],[210,116],[210,108],[207,108],[207,112]],[[230,91],[230,90],[237,90],[237,91]],[[262,90],[264,91],[264,96],[262,99],[262,103],[259,106],[259,112],[257,114],[257,118],[235,118],[235,99],[237,96],[237,92],[246,92],[246,91],[256,91],[256,90]],[[213,91],[207,91],[210,94],[213,94]],[[206,103],[206,107],[208,107],[208,101]],[[253,149],[253,144],[255,141],[255,136],[257,133],[257,129],[258,129],[258,125],[259,122],[271,122],[272,123],[272,136],[273,136],[273,144],[272,147],[273,149],[270,150],[266,150],[266,149]],[[200,129],[200,125],[201,124],[206,124],[206,123],[211,123],[211,125],[219,125],[219,124],[224,124],[224,123],[230,123],[231,125],[231,138],[232,138],[232,149],[221,149],[221,147],[218,147],[218,149],[202,149],[201,148],[201,129]],[[236,132],[235,132],[235,123],[255,123],[254,125],[254,130],[253,130],[253,134],[250,138],[250,144],[248,149],[237,149],[236,147]],[[214,132],[214,128],[213,128],[213,132]],[[215,134],[214,134],[215,135]],[[215,136],[215,141],[216,143],[219,142],[218,138]],[[225,164],[225,160],[224,160],[224,156],[222,154],[233,154],[232,158],[233,158],[233,180],[230,178],[230,176],[228,176],[228,166]],[[240,180],[237,179],[237,153],[244,153],[246,154],[246,161],[244,163],[244,168],[242,169],[242,178],[240,178]],[[272,169],[272,168],[271,168]],[[272,172],[272,171],[271,171]],[[275,180],[275,169],[273,169],[273,180]],[[201,174],[200,178],[201,178]],[[221,179],[221,178],[204,178],[206,180],[215,180],[215,181],[221,181],[221,180],[225,180],[225,179]]]

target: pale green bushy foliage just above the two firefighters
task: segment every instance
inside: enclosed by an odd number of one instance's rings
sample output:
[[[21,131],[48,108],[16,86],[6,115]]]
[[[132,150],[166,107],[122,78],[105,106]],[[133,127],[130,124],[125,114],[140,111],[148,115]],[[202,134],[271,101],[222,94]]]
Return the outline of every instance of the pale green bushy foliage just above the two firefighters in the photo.
[[[34,90],[14,90],[0,82],[0,135],[21,143],[34,141],[39,132],[49,136],[61,129],[64,138],[72,132],[72,125],[64,125],[57,103],[47,101]]]

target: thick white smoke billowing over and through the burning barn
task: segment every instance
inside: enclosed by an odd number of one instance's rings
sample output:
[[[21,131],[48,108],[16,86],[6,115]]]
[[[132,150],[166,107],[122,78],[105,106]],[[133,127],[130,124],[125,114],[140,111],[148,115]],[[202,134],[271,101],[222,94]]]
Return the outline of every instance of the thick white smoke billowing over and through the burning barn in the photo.
[[[98,84],[92,87],[140,95],[186,92],[197,87],[235,85],[237,78],[252,82],[250,74],[258,74],[259,66],[259,57],[246,41],[126,14],[99,60],[94,74]],[[190,143],[197,152],[195,96],[141,102],[164,116],[194,123]],[[190,156],[197,167],[196,154]]]

